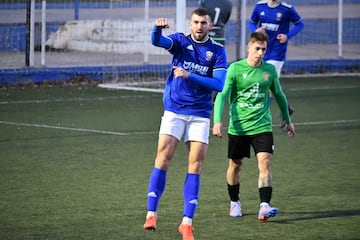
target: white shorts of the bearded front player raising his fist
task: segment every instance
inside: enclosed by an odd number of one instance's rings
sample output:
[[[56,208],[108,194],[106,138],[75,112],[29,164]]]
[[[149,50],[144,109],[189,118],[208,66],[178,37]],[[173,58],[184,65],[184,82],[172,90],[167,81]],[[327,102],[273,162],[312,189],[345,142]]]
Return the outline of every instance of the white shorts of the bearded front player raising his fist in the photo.
[[[209,143],[210,119],[194,115],[177,114],[164,111],[159,134],[167,134],[184,142]]]

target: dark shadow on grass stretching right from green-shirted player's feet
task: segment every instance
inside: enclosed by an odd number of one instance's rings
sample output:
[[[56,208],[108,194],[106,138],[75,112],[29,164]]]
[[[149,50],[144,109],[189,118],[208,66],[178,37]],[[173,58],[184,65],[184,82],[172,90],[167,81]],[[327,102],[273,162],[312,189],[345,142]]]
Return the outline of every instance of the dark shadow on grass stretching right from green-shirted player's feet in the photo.
[[[282,212],[280,216],[292,216],[290,219],[277,220],[276,218],[271,219],[271,222],[290,224],[296,221],[304,221],[311,219],[321,218],[338,218],[338,217],[349,217],[349,216],[360,216],[360,209],[355,210],[333,210],[333,211],[317,211],[317,212]]]

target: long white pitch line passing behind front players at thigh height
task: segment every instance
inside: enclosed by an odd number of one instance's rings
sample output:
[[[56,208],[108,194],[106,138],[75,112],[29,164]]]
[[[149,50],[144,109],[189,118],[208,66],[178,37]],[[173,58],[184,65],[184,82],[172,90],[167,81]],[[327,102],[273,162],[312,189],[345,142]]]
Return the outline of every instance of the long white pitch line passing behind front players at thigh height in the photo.
[[[295,126],[312,126],[312,125],[345,124],[345,123],[356,123],[356,122],[360,122],[360,119],[303,122],[303,123],[294,123],[294,125]],[[157,131],[126,133],[126,132],[102,131],[102,130],[95,130],[95,129],[60,127],[60,126],[52,126],[52,125],[46,125],[46,124],[19,123],[19,122],[8,122],[8,121],[0,121],[0,124],[16,125],[16,126],[24,126],[24,127],[36,127],[36,128],[50,128],[50,129],[59,129],[59,130],[66,130],[66,131],[77,131],[77,132],[87,132],[87,133],[117,135],[117,136],[146,135],[146,134],[157,134],[158,133]],[[275,127],[275,126],[278,126],[278,125],[273,125],[273,127]]]

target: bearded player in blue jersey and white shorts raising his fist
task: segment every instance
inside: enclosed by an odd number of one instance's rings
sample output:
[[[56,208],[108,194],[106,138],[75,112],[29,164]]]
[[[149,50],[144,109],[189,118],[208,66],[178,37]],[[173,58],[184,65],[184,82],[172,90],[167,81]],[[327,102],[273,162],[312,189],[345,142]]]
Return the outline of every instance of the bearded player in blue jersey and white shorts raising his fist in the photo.
[[[166,174],[178,143],[183,138],[188,150],[188,168],[183,186],[184,210],[178,231],[183,240],[193,240],[192,220],[198,204],[200,172],[205,158],[212,112],[212,91],[221,92],[226,76],[224,47],[211,40],[211,19],[206,9],[191,14],[190,34],[162,35],[168,20],[155,22],[151,41],[172,54],[167,78],[155,165],[150,174],[145,230],[155,230],[158,204],[166,186]]]

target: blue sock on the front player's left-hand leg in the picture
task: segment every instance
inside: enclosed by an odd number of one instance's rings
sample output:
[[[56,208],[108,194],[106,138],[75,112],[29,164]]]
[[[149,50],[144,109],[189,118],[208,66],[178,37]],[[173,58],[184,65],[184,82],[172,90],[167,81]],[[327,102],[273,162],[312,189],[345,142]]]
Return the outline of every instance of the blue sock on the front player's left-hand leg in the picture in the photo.
[[[165,190],[165,184],[166,171],[154,167],[149,180],[149,190],[147,197],[148,211],[157,211],[160,197]]]

